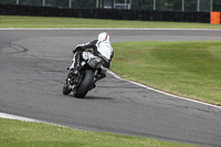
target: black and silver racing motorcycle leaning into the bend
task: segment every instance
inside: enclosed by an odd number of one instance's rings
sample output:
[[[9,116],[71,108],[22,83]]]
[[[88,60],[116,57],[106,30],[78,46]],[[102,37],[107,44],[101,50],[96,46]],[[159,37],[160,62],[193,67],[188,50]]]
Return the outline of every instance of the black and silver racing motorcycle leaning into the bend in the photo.
[[[75,53],[81,52],[77,48]],[[84,51],[82,53],[83,60],[80,63],[80,67],[75,70],[69,70],[65,84],[63,86],[63,94],[69,95],[73,92],[74,97],[84,98],[88,91],[95,87],[95,83],[103,78],[102,64],[104,60],[99,56],[95,56],[92,51]]]

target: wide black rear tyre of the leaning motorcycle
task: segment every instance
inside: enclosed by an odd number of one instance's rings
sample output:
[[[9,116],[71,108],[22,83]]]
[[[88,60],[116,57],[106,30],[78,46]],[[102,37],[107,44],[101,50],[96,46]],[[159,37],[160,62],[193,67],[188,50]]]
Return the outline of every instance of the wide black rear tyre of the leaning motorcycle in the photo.
[[[91,70],[86,70],[84,80],[82,81],[82,84],[76,90],[76,93],[74,93],[75,97],[84,98],[90,88],[92,87],[92,84],[94,82],[94,72]]]

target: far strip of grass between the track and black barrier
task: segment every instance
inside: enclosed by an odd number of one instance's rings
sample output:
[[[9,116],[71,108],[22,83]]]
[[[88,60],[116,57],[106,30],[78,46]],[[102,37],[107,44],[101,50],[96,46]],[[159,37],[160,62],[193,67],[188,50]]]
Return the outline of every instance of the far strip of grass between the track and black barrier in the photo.
[[[0,15],[0,28],[170,28],[170,29],[221,29],[220,24],[123,21],[52,17]]]

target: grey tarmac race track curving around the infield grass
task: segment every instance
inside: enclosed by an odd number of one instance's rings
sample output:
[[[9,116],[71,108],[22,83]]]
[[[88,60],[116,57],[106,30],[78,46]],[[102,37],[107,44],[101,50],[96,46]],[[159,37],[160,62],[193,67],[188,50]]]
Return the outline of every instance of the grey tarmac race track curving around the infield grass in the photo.
[[[64,96],[72,49],[102,30],[1,30],[0,112],[87,130],[221,146],[221,109],[113,75],[85,98]],[[112,42],[221,40],[209,30],[105,30]]]

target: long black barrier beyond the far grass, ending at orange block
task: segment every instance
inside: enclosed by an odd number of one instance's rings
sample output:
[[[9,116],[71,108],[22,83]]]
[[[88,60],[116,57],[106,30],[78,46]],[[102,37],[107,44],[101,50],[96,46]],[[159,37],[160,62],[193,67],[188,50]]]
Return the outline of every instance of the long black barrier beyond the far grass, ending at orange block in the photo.
[[[0,14],[70,17],[112,20],[173,21],[173,22],[210,22],[209,12],[175,12],[117,9],[67,9],[33,6],[0,4]]]

